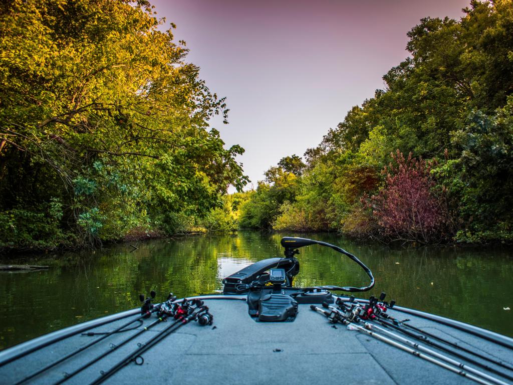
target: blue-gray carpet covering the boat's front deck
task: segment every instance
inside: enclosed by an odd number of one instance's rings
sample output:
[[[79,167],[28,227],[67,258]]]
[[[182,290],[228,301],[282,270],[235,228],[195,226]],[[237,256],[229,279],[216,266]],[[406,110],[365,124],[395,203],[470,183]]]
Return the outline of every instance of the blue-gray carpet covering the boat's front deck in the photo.
[[[255,322],[247,314],[247,305],[236,300],[207,300],[214,315],[213,326],[197,323],[183,326],[144,353],[144,363],[130,363],[106,383],[176,384],[459,384],[472,383],[382,341],[338,324],[333,328],[322,315],[300,305],[294,322]],[[513,350],[463,333],[448,326],[413,316],[391,312],[399,319],[458,342],[472,350],[487,352],[513,364]],[[135,317],[134,317],[135,318]],[[113,330],[128,319],[106,324],[96,331]],[[153,321],[145,320],[145,325]],[[157,325],[127,343],[106,358],[91,365],[65,383],[89,383],[114,363],[162,330]],[[85,352],[57,365],[28,383],[51,384],[80,365],[119,344],[135,331],[113,335]],[[89,343],[93,338],[74,336],[34,352],[0,368],[0,383],[12,384],[63,355]],[[27,344],[0,352],[0,360]],[[455,358],[458,359],[458,358]],[[458,359],[460,360],[460,359]],[[490,367],[494,365],[487,363]],[[479,368],[477,368],[479,369]],[[498,368],[513,376],[513,372]],[[495,376],[495,375],[494,375]],[[498,376],[496,376],[498,377]],[[498,377],[500,378],[500,377]],[[504,380],[510,383],[508,380]]]

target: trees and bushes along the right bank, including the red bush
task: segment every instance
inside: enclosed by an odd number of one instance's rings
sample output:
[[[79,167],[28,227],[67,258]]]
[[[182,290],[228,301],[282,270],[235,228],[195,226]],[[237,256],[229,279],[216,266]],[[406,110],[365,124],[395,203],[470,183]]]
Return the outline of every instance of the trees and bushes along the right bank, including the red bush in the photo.
[[[385,89],[235,196],[239,226],[513,242],[513,5],[464,13],[413,27]]]

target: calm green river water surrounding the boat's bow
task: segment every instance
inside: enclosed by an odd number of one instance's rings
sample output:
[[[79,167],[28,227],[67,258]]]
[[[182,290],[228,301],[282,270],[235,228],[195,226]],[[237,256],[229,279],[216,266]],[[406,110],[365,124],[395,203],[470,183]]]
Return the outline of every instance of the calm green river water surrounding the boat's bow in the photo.
[[[290,234],[287,234],[290,235]],[[282,255],[284,234],[239,232],[109,245],[96,252],[9,260],[50,264],[47,271],[0,273],[0,349],[139,304],[139,294],[177,296],[222,289],[222,279],[264,258]],[[513,251],[510,248],[389,248],[331,234],[304,235],[338,244],[367,264],[376,285],[401,306],[455,318],[513,336]],[[133,244],[133,242],[132,242]],[[360,267],[329,248],[299,255],[295,285],[362,286]],[[6,263],[3,261],[1,263]]]

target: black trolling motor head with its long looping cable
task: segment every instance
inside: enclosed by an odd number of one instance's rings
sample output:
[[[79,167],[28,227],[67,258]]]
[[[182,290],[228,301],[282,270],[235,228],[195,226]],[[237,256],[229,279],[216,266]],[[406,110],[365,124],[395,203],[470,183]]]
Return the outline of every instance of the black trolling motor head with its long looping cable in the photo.
[[[346,255],[351,260],[356,262],[357,264],[362,267],[364,272],[369,276],[370,282],[367,286],[363,287],[354,287],[354,286],[336,286],[336,285],[324,285],[324,286],[312,286],[312,287],[305,287],[303,290],[312,290],[312,289],[325,289],[325,290],[331,290],[331,291],[343,291],[343,292],[366,292],[370,290],[374,286],[374,276],[372,275],[372,272],[370,269],[362,262],[360,261],[356,256],[352,255],[351,253],[346,252],[342,247],[332,245],[331,243],[322,242],[322,241],[315,241],[313,239],[307,239],[307,238],[298,238],[298,237],[283,237],[281,240],[281,244],[283,247],[285,247],[285,256],[286,257],[292,257],[294,254],[299,254],[298,248],[308,245],[321,245],[332,248],[334,251],[339,252],[341,254]]]

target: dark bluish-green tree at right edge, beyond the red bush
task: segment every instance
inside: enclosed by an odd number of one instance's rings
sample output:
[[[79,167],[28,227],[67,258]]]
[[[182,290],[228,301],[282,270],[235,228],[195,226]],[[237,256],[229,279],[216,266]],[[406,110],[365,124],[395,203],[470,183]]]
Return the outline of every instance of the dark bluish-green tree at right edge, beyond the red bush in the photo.
[[[513,96],[492,116],[472,111],[453,140],[462,149],[458,238],[513,241]]]

